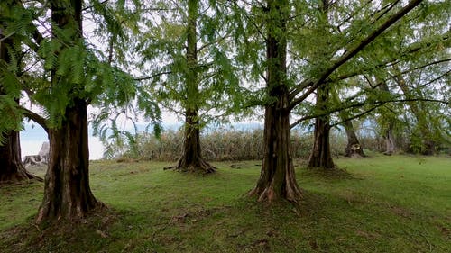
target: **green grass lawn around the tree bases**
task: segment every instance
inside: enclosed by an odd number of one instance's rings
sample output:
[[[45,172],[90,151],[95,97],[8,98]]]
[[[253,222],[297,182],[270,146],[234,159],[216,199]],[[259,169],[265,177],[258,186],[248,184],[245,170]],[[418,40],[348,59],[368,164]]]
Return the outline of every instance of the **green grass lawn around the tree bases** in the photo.
[[[91,187],[108,210],[47,229],[32,224],[41,183],[1,185],[0,252],[451,252],[451,158],[336,163],[349,176],[297,167],[296,209],[244,197],[259,161],[216,163],[212,176],[93,162]]]

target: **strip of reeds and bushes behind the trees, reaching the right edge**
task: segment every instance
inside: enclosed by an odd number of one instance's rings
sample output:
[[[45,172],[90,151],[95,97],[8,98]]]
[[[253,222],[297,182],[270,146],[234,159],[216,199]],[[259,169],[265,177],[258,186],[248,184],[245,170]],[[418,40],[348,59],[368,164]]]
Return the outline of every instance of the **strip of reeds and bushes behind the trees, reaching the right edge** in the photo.
[[[377,126],[375,126],[377,127]],[[357,130],[362,147],[373,152],[385,151],[385,140],[372,128]],[[249,128],[246,130],[226,129],[224,127],[207,129],[200,138],[203,147],[202,157],[207,160],[260,160],[263,158],[263,130]],[[330,136],[331,151],[334,158],[345,155],[347,144],[345,130],[335,128]],[[128,139],[107,143],[105,158],[142,159],[152,161],[176,161],[183,144],[183,132],[162,131],[161,136],[140,132],[128,135]],[[291,131],[291,153],[293,158],[307,159],[313,145],[313,132],[296,128]],[[396,146],[399,154],[415,154],[415,143],[409,135],[399,134]],[[437,152],[450,154],[446,142],[437,146]]]

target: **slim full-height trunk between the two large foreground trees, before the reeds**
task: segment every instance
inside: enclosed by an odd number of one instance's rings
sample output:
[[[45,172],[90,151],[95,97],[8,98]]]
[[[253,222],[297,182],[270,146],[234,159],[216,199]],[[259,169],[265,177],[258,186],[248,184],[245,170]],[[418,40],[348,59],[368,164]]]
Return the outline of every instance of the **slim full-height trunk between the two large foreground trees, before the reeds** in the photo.
[[[186,73],[187,101],[185,102],[185,133],[182,156],[179,159],[177,169],[189,172],[216,172],[216,167],[211,166],[202,158],[200,146],[200,124],[198,115],[198,48],[197,48],[197,17],[198,0],[188,1],[188,36],[187,36],[187,61]]]

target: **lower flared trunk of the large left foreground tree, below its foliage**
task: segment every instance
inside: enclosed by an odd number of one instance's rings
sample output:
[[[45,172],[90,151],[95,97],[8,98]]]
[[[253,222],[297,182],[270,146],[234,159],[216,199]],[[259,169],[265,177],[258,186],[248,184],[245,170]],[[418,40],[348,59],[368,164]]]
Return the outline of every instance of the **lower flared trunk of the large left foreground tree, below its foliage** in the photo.
[[[76,100],[60,128],[51,129],[50,160],[37,222],[82,218],[102,203],[89,187],[87,104]]]

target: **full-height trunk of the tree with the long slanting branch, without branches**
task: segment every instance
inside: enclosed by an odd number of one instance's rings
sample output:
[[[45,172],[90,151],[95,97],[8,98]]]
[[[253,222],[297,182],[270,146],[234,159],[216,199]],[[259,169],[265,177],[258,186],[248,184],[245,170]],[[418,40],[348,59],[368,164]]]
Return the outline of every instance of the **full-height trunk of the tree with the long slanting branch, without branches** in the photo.
[[[290,106],[286,80],[286,18],[288,2],[268,0],[272,19],[266,41],[267,91],[274,100],[265,106],[264,158],[257,185],[249,193],[259,201],[288,200],[298,202],[301,191],[294,174],[290,151]]]

